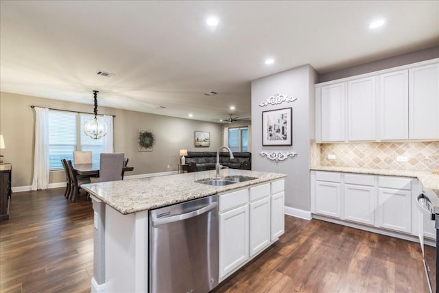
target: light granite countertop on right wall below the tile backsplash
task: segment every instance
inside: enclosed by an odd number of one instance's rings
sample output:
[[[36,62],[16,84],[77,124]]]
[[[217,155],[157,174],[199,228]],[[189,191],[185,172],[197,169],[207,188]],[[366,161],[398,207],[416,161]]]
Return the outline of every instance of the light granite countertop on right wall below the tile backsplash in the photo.
[[[368,168],[353,168],[353,167],[332,167],[332,166],[317,166],[311,167],[311,170],[329,171],[329,172],[344,172],[344,173],[359,173],[371,175],[384,176],[403,176],[418,178],[423,187],[431,189],[439,198],[439,175],[431,172],[422,171],[406,171],[406,170],[390,170],[390,169],[368,169]]]

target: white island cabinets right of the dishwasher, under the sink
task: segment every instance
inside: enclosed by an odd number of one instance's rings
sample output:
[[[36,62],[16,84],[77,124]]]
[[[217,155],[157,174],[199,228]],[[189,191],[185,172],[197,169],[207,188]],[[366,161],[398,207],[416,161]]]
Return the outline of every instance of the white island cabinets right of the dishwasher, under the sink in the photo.
[[[284,231],[284,180],[219,194],[219,279],[270,246]]]

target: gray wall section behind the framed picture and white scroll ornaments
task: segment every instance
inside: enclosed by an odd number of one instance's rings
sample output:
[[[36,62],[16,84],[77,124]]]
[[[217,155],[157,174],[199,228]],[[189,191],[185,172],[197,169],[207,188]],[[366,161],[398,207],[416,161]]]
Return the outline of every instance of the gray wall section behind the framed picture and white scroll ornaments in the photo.
[[[314,84],[316,71],[305,65],[252,81],[252,169],[254,171],[287,174],[285,206],[304,211],[309,203],[309,148],[314,139]],[[260,107],[259,104],[274,94],[297,97],[294,102]],[[262,146],[262,112],[293,108],[293,145]],[[296,152],[298,155],[278,163],[262,157],[259,152]]]

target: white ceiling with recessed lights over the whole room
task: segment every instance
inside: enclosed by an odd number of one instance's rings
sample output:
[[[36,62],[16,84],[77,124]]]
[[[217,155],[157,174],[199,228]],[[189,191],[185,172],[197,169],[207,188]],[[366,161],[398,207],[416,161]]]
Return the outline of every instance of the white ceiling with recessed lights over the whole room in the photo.
[[[97,89],[100,106],[204,121],[250,117],[250,81],[266,75],[439,44],[439,1],[1,1],[0,11],[1,91],[92,105]]]

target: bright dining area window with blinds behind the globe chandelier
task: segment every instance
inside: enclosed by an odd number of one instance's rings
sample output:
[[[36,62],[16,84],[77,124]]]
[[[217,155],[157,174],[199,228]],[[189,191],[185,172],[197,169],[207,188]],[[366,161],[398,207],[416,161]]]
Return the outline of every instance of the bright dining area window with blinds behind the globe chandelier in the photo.
[[[62,169],[61,159],[73,161],[75,150],[91,150],[93,163],[99,163],[104,140],[91,139],[82,129],[84,123],[93,117],[89,114],[49,110],[49,169]]]

